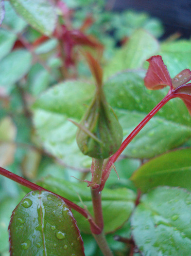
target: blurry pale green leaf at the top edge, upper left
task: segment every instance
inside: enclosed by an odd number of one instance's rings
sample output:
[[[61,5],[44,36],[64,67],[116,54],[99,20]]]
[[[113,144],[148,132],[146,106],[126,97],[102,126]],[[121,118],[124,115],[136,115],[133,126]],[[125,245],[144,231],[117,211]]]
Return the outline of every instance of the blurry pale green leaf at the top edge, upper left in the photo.
[[[31,26],[50,36],[56,25],[55,7],[49,0],[10,0],[17,13]]]

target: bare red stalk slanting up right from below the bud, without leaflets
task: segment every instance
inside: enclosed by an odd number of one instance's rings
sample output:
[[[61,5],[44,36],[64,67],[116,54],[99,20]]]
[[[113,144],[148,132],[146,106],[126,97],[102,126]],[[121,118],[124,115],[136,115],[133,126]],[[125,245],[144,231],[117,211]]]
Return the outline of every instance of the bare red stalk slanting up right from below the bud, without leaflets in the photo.
[[[138,126],[129,134],[129,136],[122,142],[121,147],[118,149],[118,151],[109,158],[105,169],[102,174],[102,183],[100,186],[100,191],[103,190],[105,181],[109,177],[112,165],[114,162],[119,158],[119,156],[122,154],[123,150],[127,147],[127,145],[131,142],[133,138],[140,132],[140,130],[147,124],[147,122],[158,112],[161,107],[163,107],[171,98],[174,98],[174,95],[172,94],[171,90],[169,93],[154,107],[154,109],[149,112],[149,114],[138,124]]]

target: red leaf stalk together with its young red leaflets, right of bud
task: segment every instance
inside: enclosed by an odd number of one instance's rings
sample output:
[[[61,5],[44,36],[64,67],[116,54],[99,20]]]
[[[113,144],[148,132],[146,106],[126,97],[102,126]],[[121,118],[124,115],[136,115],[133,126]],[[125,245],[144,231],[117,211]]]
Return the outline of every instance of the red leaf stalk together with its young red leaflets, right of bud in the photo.
[[[149,114],[138,124],[138,126],[129,134],[129,136],[122,142],[119,150],[107,159],[105,167],[102,173],[102,182],[100,185],[100,191],[103,190],[104,184],[109,177],[111,169],[114,168],[115,161],[122,154],[123,150],[128,146],[133,138],[139,133],[139,131],[145,126],[145,124],[162,108],[170,99],[181,98],[185,103],[190,115],[191,115],[191,83],[187,83],[191,80],[191,70],[184,69],[171,79],[168,69],[164,64],[162,57],[159,55],[153,56],[147,59],[149,62],[149,68],[147,70],[144,83],[148,89],[157,90],[166,86],[170,86],[170,90],[167,95],[156,105],[156,107],[149,112]]]

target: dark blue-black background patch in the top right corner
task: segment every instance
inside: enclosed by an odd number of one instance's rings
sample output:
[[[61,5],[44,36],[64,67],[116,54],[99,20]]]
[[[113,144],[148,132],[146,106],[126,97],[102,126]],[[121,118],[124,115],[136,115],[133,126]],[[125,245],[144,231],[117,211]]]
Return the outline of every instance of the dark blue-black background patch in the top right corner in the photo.
[[[165,28],[163,38],[177,32],[181,38],[191,38],[191,0],[107,0],[107,5],[114,11],[133,9],[159,18]]]

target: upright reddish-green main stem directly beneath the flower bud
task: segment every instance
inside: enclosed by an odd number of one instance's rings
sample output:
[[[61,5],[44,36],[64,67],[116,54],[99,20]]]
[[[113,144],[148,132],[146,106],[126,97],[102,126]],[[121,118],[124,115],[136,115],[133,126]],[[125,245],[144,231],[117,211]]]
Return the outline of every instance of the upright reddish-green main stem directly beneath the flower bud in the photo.
[[[97,244],[99,245],[102,253],[104,256],[113,256],[105,235],[104,235],[104,219],[103,219],[103,211],[102,211],[102,193],[100,192],[100,183],[101,183],[101,177],[102,177],[102,167],[103,167],[103,159],[93,159],[92,160],[92,166],[91,166],[91,172],[92,172],[92,179],[91,181],[97,185],[99,185],[97,188],[91,187],[91,197],[92,197],[92,204],[93,204],[93,211],[94,211],[94,219],[95,223],[98,225],[98,227],[101,229],[100,234],[93,234]]]

